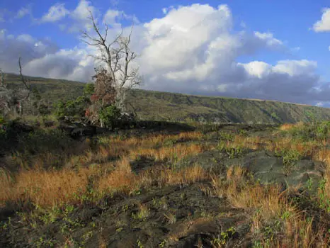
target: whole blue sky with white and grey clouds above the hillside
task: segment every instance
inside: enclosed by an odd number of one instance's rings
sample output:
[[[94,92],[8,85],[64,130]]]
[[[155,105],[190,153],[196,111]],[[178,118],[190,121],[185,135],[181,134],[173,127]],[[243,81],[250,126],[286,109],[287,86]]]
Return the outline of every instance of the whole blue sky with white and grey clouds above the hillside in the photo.
[[[1,0],[0,68],[91,81],[89,11],[134,26],[142,89],[330,107],[330,0]]]

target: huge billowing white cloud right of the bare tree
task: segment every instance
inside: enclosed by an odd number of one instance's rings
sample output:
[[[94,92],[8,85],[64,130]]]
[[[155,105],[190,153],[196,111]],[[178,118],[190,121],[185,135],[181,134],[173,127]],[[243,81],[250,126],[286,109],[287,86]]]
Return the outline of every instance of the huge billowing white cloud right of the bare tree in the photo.
[[[324,101],[317,91],[317,62],[282,60],[239,63],[261,50],[290,51],[273,33],[234,32],[228,6],[193,4],[144,23],[140,61],[147,89],[262,98],[298,103]]]

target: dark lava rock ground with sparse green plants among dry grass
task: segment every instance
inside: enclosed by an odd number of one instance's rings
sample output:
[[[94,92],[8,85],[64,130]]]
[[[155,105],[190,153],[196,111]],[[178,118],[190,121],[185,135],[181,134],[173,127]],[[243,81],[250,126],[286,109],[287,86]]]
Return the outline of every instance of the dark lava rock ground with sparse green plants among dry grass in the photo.
[[[277,130],[262,125],[205,128],[201,130],[202,136],[198,141],[175,140],[171,144],[163,144],[189,145],[197,142],[207,147],[198,154],[184,157],[175,163],[175,167],[173,162],[156,161],[149,157],[130,162],[135,175],[152,167],[182,169],[195,164],[212,175],[190,184],[178,182],[159,186],[157,179],[153,179],[149,186],[142,186],[137,191],[105,194],[96,201],[84,199],[81,204],[63,205],[60,210],[37,209],[28,203],[17,209],[7,203],[1,210],[0,247],[275,246],[278,244],[275,236],[282,235],[286,224],[281,222],[283,227],[280,231],[272,227],[268,232],[264,228],[256,232],[256,224],[250,215],[258,213],[257,209],[235,205],[228,196],[227,188],[230,186],[224,186],[223,193],[216,191],[215,177],[227,180],[226,184],[230,185],[233,183],[230,180],[234,178],[228,177],[228,170],[238,166],[247,171],[246,178],[249,179],[246,179],[246,184],[250,180],[265,188],[276,184],[279,193],[295,188],[300,198],[307,199],[306,202],[312,201],[311,196],[317,195],[320,182],[324,179],[326,164],[305,153],[290,157],[269,149],[272,140],[278,139]],[[145,131],[154,135],[164,132],[166,128]],[[180,132],[171,130],[167,133]],[[132,137],[141,133],[130,130],[120,131],[118,135]],[[235,135],[248,141],[245,145],[232,147]],[[249,138],[254,139],[254,145],[246,145]],[[264,140],[269,141],[268,145],[263,144]],[[229,148],[220,142],[229,144]],[[291,198],[292,195],[289,195],[288,198]],[[314,206],[305,209],[311,208]],[[319,206],[315,208],[319,209]],[[324,236],[324,239],[327,237]]]

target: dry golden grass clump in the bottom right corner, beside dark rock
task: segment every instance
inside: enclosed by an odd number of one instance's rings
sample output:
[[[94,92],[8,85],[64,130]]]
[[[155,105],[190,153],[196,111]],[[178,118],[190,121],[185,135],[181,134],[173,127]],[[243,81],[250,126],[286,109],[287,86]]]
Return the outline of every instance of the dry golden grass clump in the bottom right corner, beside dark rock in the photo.
[[[277,186],[251,184],[245,174],[244,169],[231,167],[226,181],[213,178],[212,185],[217,195],[226,196],[232,206],[246,211],[254,240],[263,247],[328,247],[329,233],[323,224],[313,227],[312,220],[307,221],[285,192]]]

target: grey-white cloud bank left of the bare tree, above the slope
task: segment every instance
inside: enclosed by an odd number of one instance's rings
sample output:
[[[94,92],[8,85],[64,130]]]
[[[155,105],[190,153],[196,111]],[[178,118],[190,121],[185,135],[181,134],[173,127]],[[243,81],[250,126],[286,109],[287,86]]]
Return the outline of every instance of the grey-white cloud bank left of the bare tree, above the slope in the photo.
[[[88,81],[93,73],[93,61],[87,50],[59,50],[50,40],[35,40],[24,34],[7,35],[0,31],[0,68],[18,72],[18,57],[22,57],[24,74],[57,79]]]

